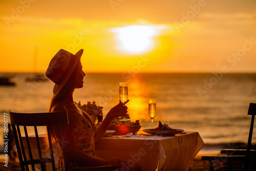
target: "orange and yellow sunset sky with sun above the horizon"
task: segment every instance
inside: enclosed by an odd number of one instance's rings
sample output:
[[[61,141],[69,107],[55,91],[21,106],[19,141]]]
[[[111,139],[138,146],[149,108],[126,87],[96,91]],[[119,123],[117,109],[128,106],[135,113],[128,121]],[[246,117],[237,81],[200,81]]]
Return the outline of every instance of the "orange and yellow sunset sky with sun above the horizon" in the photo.
[[[85,72],[256,72],[255,0],[2,0],[0,16],[0,72],[45,72],[60,49],[84,49]]]

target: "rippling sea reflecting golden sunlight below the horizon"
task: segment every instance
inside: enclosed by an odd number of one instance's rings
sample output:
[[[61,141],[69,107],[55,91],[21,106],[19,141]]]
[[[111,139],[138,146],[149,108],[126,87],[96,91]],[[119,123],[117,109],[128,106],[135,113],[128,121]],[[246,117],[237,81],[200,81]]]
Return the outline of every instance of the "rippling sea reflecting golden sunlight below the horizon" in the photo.
[[[47,112],[53,94],[50,80],[27,81],[32,73],[9,75],[16,86],[0,86],[0,137],[10,109]],[[153,127],[161,121],[173,129],[198,132],[210,144],[247,142],[251,119],[247,112],[249,103],[256,103],[256,73],[87,73],[74,101],[95,101],[105,117],[119,102],[119,82],[127,82],[128,114],[131,121],[139,120],[141,130],[152,127],[148,100],[156,99]]]

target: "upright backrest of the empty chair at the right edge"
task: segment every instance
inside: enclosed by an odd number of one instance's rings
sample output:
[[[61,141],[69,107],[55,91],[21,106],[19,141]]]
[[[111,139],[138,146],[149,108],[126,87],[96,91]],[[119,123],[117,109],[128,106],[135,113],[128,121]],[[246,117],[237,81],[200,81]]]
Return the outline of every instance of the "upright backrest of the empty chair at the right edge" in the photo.
[[[250,150],[251,150],[251,139],[252,139],[253,125],[254,125],[254,117],[256,115],[256,103],[250,103],[249,109],[248,109],[248,115],[251,115],[251,124],[250,124],[250,131],[249,131],[247,148],[246,148],[244,170],[248,170],[248,165],[249,165]],[[253,162],[253,169],[252,170],[256,170],[255,162],[256,162],[256,153],[255,153],[255,156],[254,156],[254,162]]]

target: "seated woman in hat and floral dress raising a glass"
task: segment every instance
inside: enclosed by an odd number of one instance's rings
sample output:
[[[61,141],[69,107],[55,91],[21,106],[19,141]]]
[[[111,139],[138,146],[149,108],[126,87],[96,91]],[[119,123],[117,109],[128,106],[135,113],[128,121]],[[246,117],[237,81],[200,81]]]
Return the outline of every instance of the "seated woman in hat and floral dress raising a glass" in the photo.
[[[46,71],[46,76],[55,83],[49,111],[67,111],[69,117],[70,124],[65,127],[68,143],[59,144],[60,146],[67,145],[68,167],[113,165],[121,168],[129,166],[129,163],[118,159],[107,160],[95,155],[95,143],[101,139],[115,117],[126,116],[127,107],[119,102],[96,129],[91,117],[77,106],[73,101],[73,92],[83,87],[83,77],[86,75],[82,71],[80,62],[82,52],[83,50],[80,50],[73,55],[63,49],[59,50]],[[56,140],[61,139],[57,126],[53,127],[53,132]],[[64,169],[62,154],[57,159],[56,169]],[[136,166],[134,170],[140,170],[140,167]]]

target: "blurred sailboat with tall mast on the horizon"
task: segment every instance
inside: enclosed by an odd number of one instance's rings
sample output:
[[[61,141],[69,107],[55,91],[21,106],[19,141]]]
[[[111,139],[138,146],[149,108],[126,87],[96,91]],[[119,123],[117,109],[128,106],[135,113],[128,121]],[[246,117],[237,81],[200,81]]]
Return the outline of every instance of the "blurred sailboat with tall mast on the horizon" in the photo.
[[[45,74],[37,73],[36,72],[36,66],[37,66],[37,54],[38,54],[38,48],[35,47],[34,49],[34,62],[33,62],[33,76],[27,77],[26,81],[48,81],[49,79],[45,76]]]

